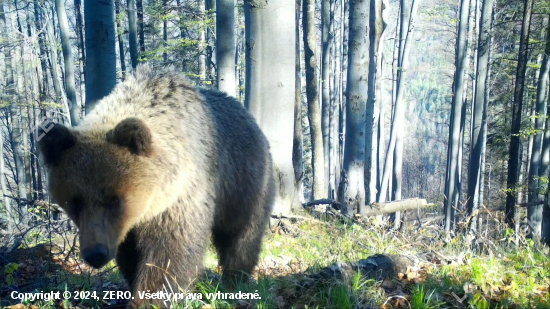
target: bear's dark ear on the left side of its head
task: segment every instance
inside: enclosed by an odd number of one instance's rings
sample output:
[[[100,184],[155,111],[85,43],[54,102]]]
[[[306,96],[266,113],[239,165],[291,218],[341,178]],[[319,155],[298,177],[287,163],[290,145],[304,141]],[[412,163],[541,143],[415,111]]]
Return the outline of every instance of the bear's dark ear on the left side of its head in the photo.
[[[56,164],[63,152],[76,142],[71,130],[59,123],[40,125],[36,131],[38,150],[46,165]]]

